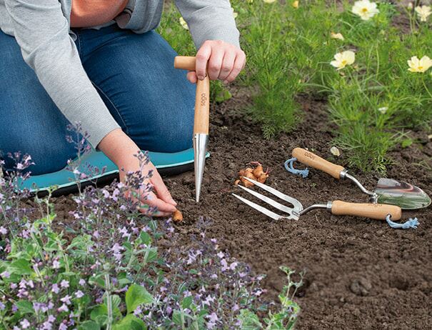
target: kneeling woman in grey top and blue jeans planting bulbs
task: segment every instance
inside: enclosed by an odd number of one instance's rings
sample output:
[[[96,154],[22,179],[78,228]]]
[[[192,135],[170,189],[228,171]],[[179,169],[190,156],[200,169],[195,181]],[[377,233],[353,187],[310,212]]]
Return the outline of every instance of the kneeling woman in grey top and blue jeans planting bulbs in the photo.
[[[175,51],[154,31],[163,0],[0,0],[0,150],[30,154],[33,175],[74,159],[65,136],[80,122],[87,140],[136,171],[139,149],[191,148],[194,85],[174,69]],[[198,50],[191,83],[228,83],[245,64],[228,0],[177,0]],[[12,164],[8,159],[6,169]],[[176,202],[154,165],[146,204],[165,216]],[[121,175],[124,180],[124,175]]]

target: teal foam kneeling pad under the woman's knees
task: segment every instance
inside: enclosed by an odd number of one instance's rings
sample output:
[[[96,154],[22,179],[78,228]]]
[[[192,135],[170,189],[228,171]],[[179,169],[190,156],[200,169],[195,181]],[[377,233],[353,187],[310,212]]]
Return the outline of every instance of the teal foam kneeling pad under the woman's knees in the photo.
[[[207,153],[206,157],[210,154]],[[156,169],[164,169],[168,167],[176,167],[185,164],[191,164],[194,162],[194,149],[187,149],[185,151],[175,153],[161,153],[161,152],[149,152],[149,159],[156,166]],[[106,166],[106,171],[103,175],[99,174],[92,176],[89,179],[98,179],[101,176],[107,176],[109,174],[115,174],[119,172],[116,164],[114,164],[105,154],[101,151],[92,150],[89,154],[81,157],[81,164],[79,165],[79,171],[87,174],[87,165],[97,167],[101,170]],[[89,179],[81,180],[81,182],[89,181]],[[37,189],[34,189],[36,184]],[[46,190],[50,186],[58,186],[58,188],[64,188],[67,186],[73,186],[76,184],[74,174],[68,171],[66,167],[60,171],[49,174],[41,174],[36,176],[30,176],[29,179],[21,183],[21,189],[27,188],[30,191]]]

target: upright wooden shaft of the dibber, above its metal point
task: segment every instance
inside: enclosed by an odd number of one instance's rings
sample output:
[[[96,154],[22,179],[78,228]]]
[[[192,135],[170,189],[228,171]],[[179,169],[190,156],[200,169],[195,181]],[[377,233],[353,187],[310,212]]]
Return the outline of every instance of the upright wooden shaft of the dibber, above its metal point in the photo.
[[[194,134],[209,134],[210,80],[209,75],[196,81]]]

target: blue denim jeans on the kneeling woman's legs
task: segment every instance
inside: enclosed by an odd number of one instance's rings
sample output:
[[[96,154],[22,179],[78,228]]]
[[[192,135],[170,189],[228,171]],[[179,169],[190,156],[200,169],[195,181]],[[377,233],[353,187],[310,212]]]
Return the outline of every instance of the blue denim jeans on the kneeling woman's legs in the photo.
[[[174,49],[156,31],[135,34],[116,24],[73,30],[91,83],[139,148],[168,153],[191,148],[195,89],[186,71],[174,69]],[[24,62],[14,37],[0,31],[0,49],[0,151],[6,170],[13,166],[6,154],[14,151],[31,155],[32,175],[63,169],[76,157],[65,138],[69,121]]]

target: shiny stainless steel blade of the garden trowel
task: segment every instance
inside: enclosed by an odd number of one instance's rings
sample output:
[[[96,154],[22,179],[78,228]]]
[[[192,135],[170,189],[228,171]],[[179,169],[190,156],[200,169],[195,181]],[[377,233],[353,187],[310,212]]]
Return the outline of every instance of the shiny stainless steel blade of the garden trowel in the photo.
[[[418,186],[394,179],[379,179],[375,192],[378,203],[397,205],[401,209],[422,209],[431,204],[431,198]]]

